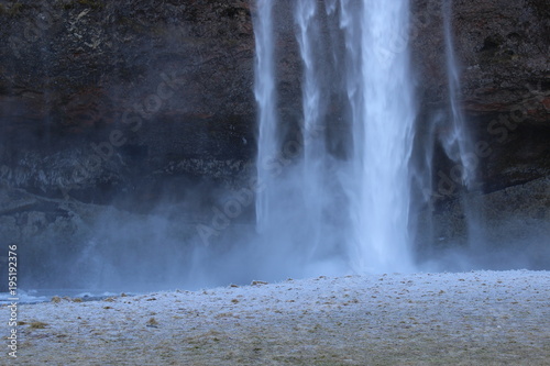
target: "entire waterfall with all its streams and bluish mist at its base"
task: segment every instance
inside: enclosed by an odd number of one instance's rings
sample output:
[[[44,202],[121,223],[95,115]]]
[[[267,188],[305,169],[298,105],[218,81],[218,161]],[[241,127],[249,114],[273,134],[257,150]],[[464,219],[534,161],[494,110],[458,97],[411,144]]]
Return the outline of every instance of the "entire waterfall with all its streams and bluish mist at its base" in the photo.
[[[452,0],[439,3],[442,16],[436,18],[443,21],[441,60],[443,69],[447,66],[449,92],[443,103],[448,108],[444,112],[443,107],[422,109],[420,113],[409,49],[414,33],[409,0],[256,0],[252,7],[256,181],[237,193],[210,192],[208,187],[195,189],[191,185],[188,195],[186,189],[189,207],[161,204],[168,209],[166,214],[133,215],[118,208],[99,212],[100,206],[94,207],[90,210],[98,218],[91,228],[81,220],[66,237],[48,231],[36,236],[36,243],[46,243],[41,244],[41,251],[48,252],[54,245],[86,243],[78,258],[68,260],[73,266],[65,271],[55,270],[50,276],[51,263],[36,259],[41,265],[44,262],[44,269],[30,271],[38,278],[36,284],[50,286],[52,278],[59,284],[55,286],[74,286],[73,295],[85,297],[94,288],[98,289],[96,295],[110,296],[119,289],[150,290],[161,282],[197,289],[289,276],[463,270],[492,265],[499,258],[516,266],[522,264],[516,256],[522,255],[528,264],[530,256],[546,253],[542,245],[531,245],[542,242],[534,230],[527,234],[536,241],[521,233],[521,245],[510,240],[513,251],[503,249],[498,257],[493,248],[503,246],[504,235],[496,236],[498,241],[493,241],[497,245],[492,245],[486,237],[495,230],[480,224],[483,199],[474,193],[481,174],[476,174],[479,159],[460,106]],[[50,138],[48,125],[44,131]],[[418,147],[422,144],[426,146]],[[436,169],[449,163],[454,165],[452,171],[460,174],[451,171],[453,191],[447,197],[453,201],[443,203],[454,211],[441,204],[442,210],[436,213]],[[190,192],[197,192],[198,198],[191,198]],[[248,222],[254,195],[255,226]],[[50,210],[54,204],[50,201],[36,206]],[[200,222],[183,224],[176,213],[195,206],[200,207]],[[80,208],[75,204],[75,210],[78,213]],[[82,211],[86,215],[87,210]],[[448,212],[451,214],[446,217]],[[206,219],[200,218],[202,213]],[[30,221],[29,225],[42,226],[48,218],[40,215],[40,222]],[[65,225],[63,222],[59,224]],[[510,222],[510,232],[522,230],[522,222]],[[496,228],[504,228],[498,224]],[[421,229],[427,234],[418,234]],[[548,236],[543,228],[540,232],[543,239]],[[58,243],[62,236],[64,241]],[[418,244],[420,240],[425,243]],[[530,245],[531,252],[524,254],[524,244]],[[437,251],[425,249],[438,245]],[[52,253],[47,258],[57,258],[57,252]],[[143,258],[146,265],[136,265]],[[455,266],[458,258],[463,265]],[[430,260],[438,263],[432,266]],[[42,273],[50,277],[35,275]],[[25,296],[29,301],[42,301],[51,293],[28,291]],[[0,296],[0,302],[7,299]]]

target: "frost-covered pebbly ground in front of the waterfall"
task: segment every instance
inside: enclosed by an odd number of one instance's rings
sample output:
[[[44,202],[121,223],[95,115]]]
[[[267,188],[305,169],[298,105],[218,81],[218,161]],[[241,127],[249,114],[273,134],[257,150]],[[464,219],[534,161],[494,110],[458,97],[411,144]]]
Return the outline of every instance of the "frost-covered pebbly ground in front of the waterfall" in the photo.
[[[58,302],[55,302],[58,301]],[[9,311],[0,309],[2,333]],[[19,308],[1,365],[550,365],[550,273],[319,277]]]

